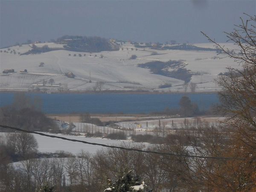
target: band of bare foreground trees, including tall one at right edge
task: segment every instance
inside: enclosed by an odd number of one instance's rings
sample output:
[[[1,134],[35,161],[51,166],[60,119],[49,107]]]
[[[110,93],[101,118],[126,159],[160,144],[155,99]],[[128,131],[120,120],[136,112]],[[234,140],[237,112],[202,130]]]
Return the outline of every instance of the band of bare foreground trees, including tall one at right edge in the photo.
[[[27,157],[18,167],[1,155],[0,191],[256,191],[256,16],[247,17],[227,33],[238,45],[239,55],[204,34],[241,66],[218,79],[224,87],[218,110],[229,116],[221,125],[199,123],[177,131],[175,139],[169,137],[163,145],[148,148],[172,155],[105,148],[95,154],[81,151],[64,156],[69,158]],[[10,143],[1,142],[0,153],[6,145]]]

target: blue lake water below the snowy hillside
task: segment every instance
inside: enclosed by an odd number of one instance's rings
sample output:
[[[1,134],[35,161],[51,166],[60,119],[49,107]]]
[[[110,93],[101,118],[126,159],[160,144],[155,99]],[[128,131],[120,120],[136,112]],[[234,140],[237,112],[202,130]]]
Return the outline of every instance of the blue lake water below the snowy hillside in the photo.
[[[184,93],[172,94],[121,94],[121,93],[26,93],[40,96],[44,113],[150,113],[165,108],[179,108]],[[217,93],[187,93],[200,110],[209,109],[218,103]],[[0,107],[12,104],[14,93],[0,93]]]

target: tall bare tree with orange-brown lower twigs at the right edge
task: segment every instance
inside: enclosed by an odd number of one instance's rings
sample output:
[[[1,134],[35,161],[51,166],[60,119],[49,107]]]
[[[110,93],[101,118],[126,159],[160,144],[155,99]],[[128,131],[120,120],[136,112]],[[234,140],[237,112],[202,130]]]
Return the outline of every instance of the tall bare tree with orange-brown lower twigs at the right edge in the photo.
[[[246,17],[247,20],[241,19],[241,24],[235,25],[233,32],[226,32],[228,41],[237,45],[236,50],[226,49],[203,33],[216,45],[219,52],[241,66],[241,69],[228,68],[229,74],[217,80],[223,87],[223,91],[219,93],[221,105],[218,110],[230,116],[224,125],[229,128],[227,133],[232,133],[228,149],[218,154],[244,158],[244,161],[230,160],[218,165],[218,169],[214,167],[214,189],[224,183],[230,187],[230,191],[256,189],[256,169],[251,164],[255,160],[252,154],[256,148],[256,16]],[[225,176],[221,178],[218,175]]]

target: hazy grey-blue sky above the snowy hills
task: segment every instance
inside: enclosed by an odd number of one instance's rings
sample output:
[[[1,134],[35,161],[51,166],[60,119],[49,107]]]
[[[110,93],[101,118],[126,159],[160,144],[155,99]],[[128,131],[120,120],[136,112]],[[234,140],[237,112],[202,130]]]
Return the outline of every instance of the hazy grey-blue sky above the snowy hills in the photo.
[[[256,0],[0,0],[0,47],[86,35],[143,42],[226,41]]]

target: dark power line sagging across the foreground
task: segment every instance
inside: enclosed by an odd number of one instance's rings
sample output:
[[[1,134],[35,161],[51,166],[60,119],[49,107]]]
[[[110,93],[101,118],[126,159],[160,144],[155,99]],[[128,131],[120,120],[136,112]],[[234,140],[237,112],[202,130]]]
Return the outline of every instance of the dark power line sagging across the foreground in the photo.
[[[65,137],[59,137],[59,136],[55,136],[55,135],[48,135],[48,134],[43,134],[43,133],[39,133],[39,132],[35,132],[35,131],[28,131],[28,130],[15,128],[15,127],[7,126],[7,125],[0,125],[0,127],[7,128],[7,129],[12,129],[12,130],[16,130],[16,131],[21,131],[21,132],[26,132],[26,133],[31,133],[31,134],[38,134],[38,135],[45,136],[45,137],[58,138],[58,139],[61,139],[61,140],[79,142],[79,143],[84,143],[84,144],[89,144],[89,145],[99,145],[99,146],[108,147],[108,148],[118,148],[118,149],[127,150],[127,151],[137,151],[137,152],[143,152],[143,153],[153,153],[153,154],[169,155],[169,156],[176,156],[176,157],[189,157],[189,158],[202,158],[202,159],[215,159],[215,160],[245,160],[244,158],[210,157],[210,156],[201,156],[201,155],[174,154],[174,153],[163,153],[163,152],[158,152],[158,151],[141,150],[141,149],[136,149],[136,148],[125,148],[125,147],[114,146],[114,145],[105,145],[105,144],[101,144],[101,143],[91,143],[91,142],[87,142],[87,141],[68,139],[68,138],[65,138]]]

